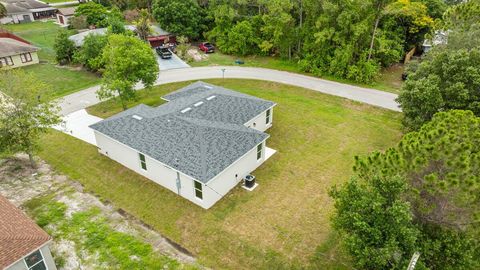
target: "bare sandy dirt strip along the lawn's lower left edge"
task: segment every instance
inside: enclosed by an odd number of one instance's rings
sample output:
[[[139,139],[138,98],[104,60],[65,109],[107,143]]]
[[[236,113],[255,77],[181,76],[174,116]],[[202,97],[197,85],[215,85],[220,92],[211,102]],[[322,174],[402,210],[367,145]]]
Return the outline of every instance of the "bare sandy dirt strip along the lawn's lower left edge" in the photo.
[[[115,231],[137,237],[149,243],[155,252],[178,262],[195,264],[196,260],[188,250],[163,237],[123,209],[117,210],[113,205],[83,192],[81,184],[56,174],[43,161],[39,161],[35,169],[30,167],[28,158],[23,155],[0,161],[0,194],[20,208],[31,199],[52,196],[52,200],[66,205],[65,216],[70,218],[74,213],[93,207],[100,209],[101,217],[108,220]],[[56,228],[48,229],[54,232]],[[99,266],[94,255],[77,250],[75,242],[69,239],[53,239],[51,250],[54,257],[62,258],[63,266],[60,268],[90,269]]]

